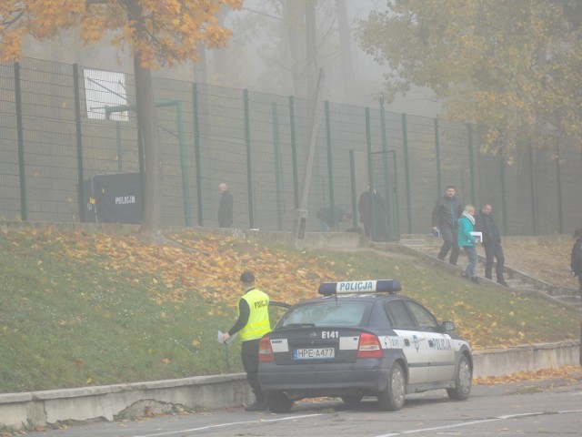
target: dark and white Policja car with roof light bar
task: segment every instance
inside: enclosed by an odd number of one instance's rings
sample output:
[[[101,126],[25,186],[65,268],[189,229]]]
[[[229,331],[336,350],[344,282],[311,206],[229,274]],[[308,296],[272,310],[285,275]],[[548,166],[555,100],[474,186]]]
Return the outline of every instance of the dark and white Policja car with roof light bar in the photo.
[[[324,283],[322,297],[286,311],[260,341],[258,378],[271,412],[320,396],[355,404],[375,396],[397,411],[405,395],[447,389],[466,400],[473,357],[467,341],[416,300],[397,295],[396,279]]]

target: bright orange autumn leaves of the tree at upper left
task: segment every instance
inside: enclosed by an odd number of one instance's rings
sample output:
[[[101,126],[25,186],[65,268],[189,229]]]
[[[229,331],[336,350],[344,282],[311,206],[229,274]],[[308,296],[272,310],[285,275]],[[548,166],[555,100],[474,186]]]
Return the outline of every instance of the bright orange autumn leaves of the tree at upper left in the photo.
[[[131,0],[140,17],[128,12],[128,0],[3,0],[0,2],[0,57],[18,60],[26,36],[42,41],[61,30],[78,28],[85,43],[107,39],[113,46],[142,54],[142,65],[197,59],[197,43],[226,45],[231,33],[217,24],[223,6],[239,9],[242,0]],[[142,22],[146,37],[138,39]]]

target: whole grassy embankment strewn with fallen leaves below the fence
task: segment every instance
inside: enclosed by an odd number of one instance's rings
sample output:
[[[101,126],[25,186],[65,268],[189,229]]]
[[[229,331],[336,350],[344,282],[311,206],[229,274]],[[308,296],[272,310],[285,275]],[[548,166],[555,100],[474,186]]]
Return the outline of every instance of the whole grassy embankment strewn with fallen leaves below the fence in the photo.
[[[33,391],[242,371],[238,277],[271,300],[313,297],[328,280],[390,279],[474,349],[577,339],[578,315],[534,294],[475,285],[413,257],[271,246],[187,232],[138,236],[0,229],[0,391]]]

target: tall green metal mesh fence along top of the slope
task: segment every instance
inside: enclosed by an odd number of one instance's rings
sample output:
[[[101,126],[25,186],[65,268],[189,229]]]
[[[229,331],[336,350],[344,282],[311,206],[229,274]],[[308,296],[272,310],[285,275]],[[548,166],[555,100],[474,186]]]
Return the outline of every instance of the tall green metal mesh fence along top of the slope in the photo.
[[[119,76],[107,84],[105,73],[90,97],[83,66],[31,58],[0,64],[3,219],[95,220],[95,178],[143,173],[134,78],[124,75],[123,101],[95,109],[91,99],[105,101],[122,89]],[[161,77],[154,86],[164,163],[161,224],[216,227],[218,184],[226,182],[236,228],[292,230],[314,102]],[[94,110],[103,119],[92,117]],[[582,226],[577,145],[524,147],[507,162],[479,152],[471,125],[386,112],[382,101],[377,107],[327,101],[318,116],[306,230],[319,230],[316,211],[324,207],[352,211],[346,228],[357,225],[357,198],[370,185],[385,200],[390,240],[428,232],[447,184],[467,203],[491,202],[506,235]]]

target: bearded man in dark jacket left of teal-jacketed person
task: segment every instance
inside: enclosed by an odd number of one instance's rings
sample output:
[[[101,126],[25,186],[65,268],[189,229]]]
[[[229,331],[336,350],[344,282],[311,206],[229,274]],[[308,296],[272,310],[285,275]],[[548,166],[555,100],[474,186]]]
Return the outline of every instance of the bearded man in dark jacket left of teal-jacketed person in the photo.
[[[455,195],[455,186],[448,185],[445,196],[437,199],[432,215],[432,229],[439,231],[443,238],[443,246],[438,252],[437,258],[444,260],[450,250],[451,256],[448,259],[452,265],[457,265],[458,260],[458,239],[457,239],[457,219],[463,213],[465,204]]]

